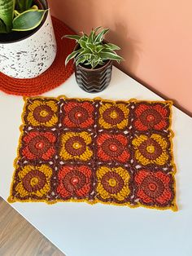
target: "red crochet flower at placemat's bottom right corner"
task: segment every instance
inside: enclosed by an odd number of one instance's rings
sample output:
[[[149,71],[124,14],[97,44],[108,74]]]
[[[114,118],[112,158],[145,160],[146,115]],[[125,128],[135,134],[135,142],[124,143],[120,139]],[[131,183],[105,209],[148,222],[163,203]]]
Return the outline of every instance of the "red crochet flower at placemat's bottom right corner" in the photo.
[[[145,204],[168,205],[172,199],[171,175],[140,170],[135,176],[137,196]]]

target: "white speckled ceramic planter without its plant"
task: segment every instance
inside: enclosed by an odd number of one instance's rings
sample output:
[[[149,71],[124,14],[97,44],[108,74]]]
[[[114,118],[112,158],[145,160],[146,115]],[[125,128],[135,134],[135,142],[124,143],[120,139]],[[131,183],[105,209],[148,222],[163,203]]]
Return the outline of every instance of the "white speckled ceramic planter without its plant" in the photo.
[[[9,77],[33,78],[50,68],[56,55],[50,11],[39,29],[16,42],[0,42],[0,72]]]

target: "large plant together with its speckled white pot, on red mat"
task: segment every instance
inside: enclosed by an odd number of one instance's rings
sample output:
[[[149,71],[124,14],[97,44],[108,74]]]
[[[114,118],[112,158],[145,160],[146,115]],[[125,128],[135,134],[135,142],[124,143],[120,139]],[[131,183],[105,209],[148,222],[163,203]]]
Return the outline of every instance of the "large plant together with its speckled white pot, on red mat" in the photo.
[[[0,72],[37,77],[55,60],[56,42],[46,0],[0,0]]]

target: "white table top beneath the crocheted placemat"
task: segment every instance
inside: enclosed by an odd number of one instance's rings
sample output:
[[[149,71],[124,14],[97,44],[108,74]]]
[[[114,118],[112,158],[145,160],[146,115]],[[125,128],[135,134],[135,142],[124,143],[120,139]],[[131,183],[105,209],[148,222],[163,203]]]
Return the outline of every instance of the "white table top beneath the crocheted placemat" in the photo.
[[[117,68],[113,69],[110,86],[97,95],[81,90],[74,75],[63,86],[44,95],[161,99]],[[21,97],[0,92],[0,196],[5,200],[14,170],[23,105]],[[15,203],[11,206],[68,256],[191,256],[192,118],[173,107],[172,130],[175,132],[178,212],[72,202],[55,205]]]

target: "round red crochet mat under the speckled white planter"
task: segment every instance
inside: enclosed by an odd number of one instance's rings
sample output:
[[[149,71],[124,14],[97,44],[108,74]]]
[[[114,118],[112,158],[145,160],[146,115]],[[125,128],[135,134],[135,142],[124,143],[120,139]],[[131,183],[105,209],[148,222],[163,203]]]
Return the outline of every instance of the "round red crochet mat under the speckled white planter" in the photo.
[[[54,63],[39,77],[18,79],[0,72],[0,90],[10,95],[34,96],[52,90],[65,82],[73,73],[72,61],[65,67],[65,59],[75,46],[73,40],[63,38],[64,34],[74,34],[62,21],[52,17],[57,41],[57,55]]]

